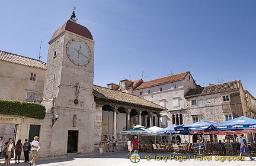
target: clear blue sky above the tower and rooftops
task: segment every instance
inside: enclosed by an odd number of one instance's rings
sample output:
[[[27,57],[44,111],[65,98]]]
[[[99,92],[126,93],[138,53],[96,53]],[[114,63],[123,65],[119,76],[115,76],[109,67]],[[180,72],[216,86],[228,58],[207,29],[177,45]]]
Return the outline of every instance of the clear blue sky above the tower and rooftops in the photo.
[[[94,84],[107,87],[123,79],[148,81],[190,71],[200,86],[241,80],[256,97],[254,0],[0,3],[2,51],[47,62],[50,38],[75,6],[78,24],[95,41]]]

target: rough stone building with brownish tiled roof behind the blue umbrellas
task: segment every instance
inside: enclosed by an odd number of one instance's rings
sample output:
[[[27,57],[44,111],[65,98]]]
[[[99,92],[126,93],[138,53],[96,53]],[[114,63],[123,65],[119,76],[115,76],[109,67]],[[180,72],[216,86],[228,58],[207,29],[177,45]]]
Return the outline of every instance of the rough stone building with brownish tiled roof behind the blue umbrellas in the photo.
[[[241,80],[190,89],[185,95],[189,121],[220,123],[239,116],[248,116]]]

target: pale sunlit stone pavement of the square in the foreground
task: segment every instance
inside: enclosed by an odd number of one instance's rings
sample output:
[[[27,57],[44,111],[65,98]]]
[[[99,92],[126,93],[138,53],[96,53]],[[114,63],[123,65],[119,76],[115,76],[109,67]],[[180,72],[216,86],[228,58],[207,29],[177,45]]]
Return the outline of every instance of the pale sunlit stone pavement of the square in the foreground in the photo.
[[[245,161],[237,161],[234,159],[237,155],[232,155],[232,157],[223,155],[225,157],[221,157],[220,155],[215,154],[152,154],[152,153],[140,153],[140,161],[137,163],[133,163],[129,158],[126,157],[127,152],[111,152],[111,155],[105,154],[101,156],[100,154],[70,154],[65,156],[57,156],[57,157],[46,157],[46,158],[38,158],[37,165],[99,165],[99,166],[126,166],[126,165],[190,165],[190,166],[198,166],[198,165],[216,165],[216,166],[235,166],[235,165],[243,165],[243,166],[253,166],[256,165],[255,161],[250,161],[249,157],[245,157]],[[255,157],[254,157],[255,158]],[[147,159],[147,160],[146,160]],[[150,160],[149,160],[150,159]],[[228,161],[231,159],[231,161]],[[220,161],[223,160],[223,161]],[[27,162],[23,162],[20,164],[12,164],[15,161],[11,161],[11,165],[15,166],[28,166]],[[3,161],[1,161],[3,163]],[[4,165],[4,164],[0,164]]]

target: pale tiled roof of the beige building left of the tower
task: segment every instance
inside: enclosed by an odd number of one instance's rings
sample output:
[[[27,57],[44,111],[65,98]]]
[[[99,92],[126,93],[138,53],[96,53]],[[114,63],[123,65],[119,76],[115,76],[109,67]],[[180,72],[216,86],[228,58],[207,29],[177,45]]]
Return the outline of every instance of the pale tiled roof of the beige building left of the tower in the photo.
[[[46,70],[46,63],[0,50],[0,60]]]

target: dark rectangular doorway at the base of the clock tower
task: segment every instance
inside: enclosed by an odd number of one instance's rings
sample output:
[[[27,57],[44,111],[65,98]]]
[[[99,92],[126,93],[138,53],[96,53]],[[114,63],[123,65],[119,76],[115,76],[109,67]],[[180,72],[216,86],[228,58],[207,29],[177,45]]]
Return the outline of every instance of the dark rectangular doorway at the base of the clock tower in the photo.
[[[78,131],[68,131],[68,153],[78,152]]]

